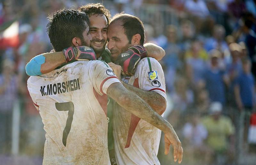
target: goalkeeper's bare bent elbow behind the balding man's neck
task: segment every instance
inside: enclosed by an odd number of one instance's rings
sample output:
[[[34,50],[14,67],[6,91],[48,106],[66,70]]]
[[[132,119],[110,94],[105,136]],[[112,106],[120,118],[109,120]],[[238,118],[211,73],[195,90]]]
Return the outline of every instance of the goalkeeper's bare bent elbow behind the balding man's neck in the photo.
[[[148,57],[152,57],[157,61],[161,60],[165,56],[165,51],[160,46],[157,46],[154,43],[145,43],[144,47],[148,52]]]

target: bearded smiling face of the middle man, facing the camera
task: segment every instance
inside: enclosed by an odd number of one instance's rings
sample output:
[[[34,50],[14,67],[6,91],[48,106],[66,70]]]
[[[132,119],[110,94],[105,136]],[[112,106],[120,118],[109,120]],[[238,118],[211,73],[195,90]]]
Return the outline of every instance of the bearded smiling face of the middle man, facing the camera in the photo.
[[[94,14],[89,19],[90,34],[92,35],[91,47],[99,58],[107,43],[107,18],[105,15]]]

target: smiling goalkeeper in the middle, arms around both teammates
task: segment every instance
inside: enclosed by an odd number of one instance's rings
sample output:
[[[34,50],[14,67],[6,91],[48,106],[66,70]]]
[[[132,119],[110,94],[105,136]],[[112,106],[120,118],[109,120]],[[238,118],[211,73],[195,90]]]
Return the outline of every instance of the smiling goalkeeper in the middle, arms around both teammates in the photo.
[[[93,48],[96,54],[96,58],[105,61],[106,63],[111,62],[110,51],[105,48],[107,43],[107,30],[110,21],[110,12],[102,4],[86,4],[79,7],[80,11],[85,12],[90,19],[90,34],[92,35],[92,41],[90,47]],[[165,52],[162,48],[154,44],[145,44],[146,50],[148,50],[148,56],[156,59],[161,59]],[[38,59],[42,59],[38,61]],[[26,72],[28,75],[42,75],[48,73],[66,63],[66,59],[63,57],[62,51],[54,53],[45,53],[33,58],[26,66]],[[114,144],[113,144],[113,107],[115,100],[108,98],[108,150],[109,153],[114,155]],[[112,160],[112,159],[111,159]],[[113,159],[114,160],[114,159]],[[113,162],[111,162],[113,163]]]

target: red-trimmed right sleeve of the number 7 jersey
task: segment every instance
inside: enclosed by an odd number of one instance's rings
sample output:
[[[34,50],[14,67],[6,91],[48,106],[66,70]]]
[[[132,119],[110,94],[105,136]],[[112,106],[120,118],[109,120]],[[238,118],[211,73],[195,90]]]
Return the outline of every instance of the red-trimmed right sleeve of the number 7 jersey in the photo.
[[[104,61],[97,60],[93,65],[94,72],[90,80],[94,89],[100,94],[107,94],[108,87],[113,83],[121,83],[111,67]]]

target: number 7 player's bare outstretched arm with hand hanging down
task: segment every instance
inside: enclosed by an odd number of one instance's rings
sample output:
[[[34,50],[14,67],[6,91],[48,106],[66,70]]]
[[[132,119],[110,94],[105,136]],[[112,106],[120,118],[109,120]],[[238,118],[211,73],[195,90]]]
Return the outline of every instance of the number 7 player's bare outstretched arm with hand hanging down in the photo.
[[[174,161],[179,159],[182,161],[183,149],[180,140],[172,128],[171,124],[157,114],[148,104],[133,92],[127,90],[120,83],[113,83],[108,87],[108,96],[116,100],[116,102],[124,107],[127,111],[140,117],[146,122],[152,124],[156,128],[165,133],[165,154],[169,152],[170,145],[173,146]]]

